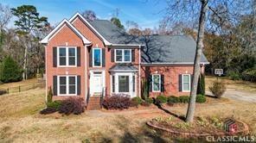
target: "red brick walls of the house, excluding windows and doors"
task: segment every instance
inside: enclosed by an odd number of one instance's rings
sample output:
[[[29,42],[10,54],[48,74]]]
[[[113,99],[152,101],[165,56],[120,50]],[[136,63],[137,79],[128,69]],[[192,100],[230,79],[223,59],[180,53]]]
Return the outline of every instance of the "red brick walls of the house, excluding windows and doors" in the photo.
[[[81,40],[80,36],[75,34],[74,30],[63,26],[51,39],[48,40],[48,45],[46,46],[46,74],[47,74],[47,87],[54,86],[53,77],[58,75],[77,75],[80,76],[80,96],[86,98],[90,89],[90,71],[101,70],[105,72],[105,86],[106,86],[106,96],[111,94],[111,72],[109,69],[112,65],[116,63],[111,61],[111,48],[107,47],[99,35],[95,34],[92,28],[89,28],[85,22],[80,18],[75,18],[72,22],[74,28],[78,29],[87,40],[91,41],[90,46],[86,46]],[[80,66],[78,67],[54,67],[53,66],[53,47],[80,47]],[[89,67],[89,52],[94,47],[99,47],[105,49],[106,51],[106,65],[104,67]],[[135,49],[135,62],[132,65],[139,69],[139,56],[140,48],[131,47]],[[140,72],[139,72],[140,71]],[[150,92],[150,96],[157,96],[164,94],[166,96],[182,96],[189,95],[189,92],[179,91],[179,81],[178,76],[180,74],[192,74],[192,65],[170,65],[170,66],[142,66],[137,73],[137,85],[136,91],[137,96],[140,96],[140,84],[139,81],[142,78],[147,77],[152,73],[159,73],[164,75],[164,92]],[[139,77],[139,73],[141,76]],[[143,87],[142,87],[143,88]],[[61,99],[67,96],[54,96],[54,99]]]

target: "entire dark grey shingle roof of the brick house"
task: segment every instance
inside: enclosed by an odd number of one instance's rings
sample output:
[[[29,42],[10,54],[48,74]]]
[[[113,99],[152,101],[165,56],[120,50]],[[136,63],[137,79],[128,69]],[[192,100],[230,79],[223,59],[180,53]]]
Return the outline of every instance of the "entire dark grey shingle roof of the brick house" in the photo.
[[[144,63],[191,63],[195,59],[195,40],[187,35],[132,36],[107,20],[90,22],[112,44],[144,45]],[[202,54],[202,62],[208,62]]]

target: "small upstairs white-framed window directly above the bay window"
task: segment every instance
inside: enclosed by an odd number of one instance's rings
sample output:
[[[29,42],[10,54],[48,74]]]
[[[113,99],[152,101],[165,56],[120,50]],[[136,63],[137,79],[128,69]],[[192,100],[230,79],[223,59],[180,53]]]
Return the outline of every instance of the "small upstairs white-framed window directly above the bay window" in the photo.
[[[115,49],[116,63],[131,63],[131,49]]]

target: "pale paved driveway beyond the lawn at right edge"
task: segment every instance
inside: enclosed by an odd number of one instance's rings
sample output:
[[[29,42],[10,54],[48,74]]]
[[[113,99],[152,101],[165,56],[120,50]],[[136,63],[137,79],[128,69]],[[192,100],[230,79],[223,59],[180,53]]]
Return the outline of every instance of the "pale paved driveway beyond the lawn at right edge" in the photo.
[[[206,94],[212,96],[212,93],[207,91]],[[224,93],[224,97],[239,100],[239,101],[245,101],[248,103],[256,103],[256,93],[255,92],[246,92],[242,90],[230,90],[228,89]]]

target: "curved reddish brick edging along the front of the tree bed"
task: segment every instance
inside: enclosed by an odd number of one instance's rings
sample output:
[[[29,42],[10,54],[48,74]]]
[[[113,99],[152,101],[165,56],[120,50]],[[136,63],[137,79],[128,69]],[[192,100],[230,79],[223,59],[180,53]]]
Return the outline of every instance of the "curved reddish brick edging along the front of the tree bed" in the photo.
[[[248,125],[245,122],[243,122],[243,121],[239,121],[239,122],[243,124],[244,128],[239,130],[239,131],[237,131],[234,134],[249,134],[249,127],[248,127]],[[189,137],[205,137],[205,136],[213,136],[213,135],[214,136],[232,135],[232,134],[228,134],[228,133],[196,134],[196,133],[188,133],[188,132],[179,132],[179,131],[175,131],[175,130],[172,130],[172,129],[167,128],[167,127],[157,126],[152,121],[147,121],[146,124],[148,126],[150,126],[150,127],[157,128],[157,129],[159,129],[161,131],[164,131],[164,132],[167,132],[169,134],[176,134],[176,135],[189,136]]]

